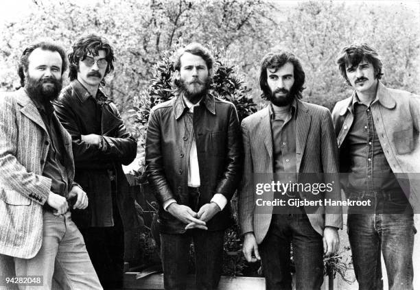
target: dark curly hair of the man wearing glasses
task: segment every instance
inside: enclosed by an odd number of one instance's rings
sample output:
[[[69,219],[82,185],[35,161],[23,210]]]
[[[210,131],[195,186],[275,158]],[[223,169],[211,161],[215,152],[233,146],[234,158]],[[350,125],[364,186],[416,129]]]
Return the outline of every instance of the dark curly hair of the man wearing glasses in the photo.
[[[71,45],[71,52],[69,53],[69,78],[71,81],[78,77],[79,61],[84,60],[88,53],[97,56],[100,50],[105,51],[105,60],[108,62],[105,77],[114,70],[113,62],[115,61],[113,48],[106,38],[96,34],[88,34],[80,37]],[[101,84],[104,86],[104,79],[102,79]]]

